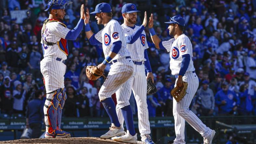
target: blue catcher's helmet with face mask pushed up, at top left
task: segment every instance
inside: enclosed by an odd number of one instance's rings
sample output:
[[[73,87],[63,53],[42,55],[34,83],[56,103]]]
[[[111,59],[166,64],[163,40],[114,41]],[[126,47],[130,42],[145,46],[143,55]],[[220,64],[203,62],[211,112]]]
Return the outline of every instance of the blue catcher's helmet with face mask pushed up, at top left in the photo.
[[[72,4],[70,0],[50,0],[45,8],[45,11],[52,9],[65,9],[65,6]]]

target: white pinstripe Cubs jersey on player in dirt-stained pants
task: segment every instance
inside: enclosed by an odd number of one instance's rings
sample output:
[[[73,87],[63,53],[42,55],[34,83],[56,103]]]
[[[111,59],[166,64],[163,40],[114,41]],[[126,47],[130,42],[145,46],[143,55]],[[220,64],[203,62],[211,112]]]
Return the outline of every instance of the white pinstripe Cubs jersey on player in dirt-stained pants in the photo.
[[[123,28],[118,23],[118,21],[111,19],[105,28],[95,34],[95,38],[102,43],[102,49],[105,58],[109,55],[113,42],[117,41],[122,42],[122,47],[118,54],[111,61],[125,56],[130,56],[130,52],[126,49],[126,40],[124,37]]]

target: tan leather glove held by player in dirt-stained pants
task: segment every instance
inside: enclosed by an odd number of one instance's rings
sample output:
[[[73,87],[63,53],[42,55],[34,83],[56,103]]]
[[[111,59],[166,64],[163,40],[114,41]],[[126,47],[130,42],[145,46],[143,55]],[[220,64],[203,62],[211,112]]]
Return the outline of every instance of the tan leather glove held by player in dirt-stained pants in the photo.
[[[100,78],[101,76],[103,76],[104,78],[106,78],[104,76],[104,70],[101,71],[97,68],[97,66],[85,66],[86,69],[86,76],[87,78],[89,78],[90,80],[97,80],[98,78]]]

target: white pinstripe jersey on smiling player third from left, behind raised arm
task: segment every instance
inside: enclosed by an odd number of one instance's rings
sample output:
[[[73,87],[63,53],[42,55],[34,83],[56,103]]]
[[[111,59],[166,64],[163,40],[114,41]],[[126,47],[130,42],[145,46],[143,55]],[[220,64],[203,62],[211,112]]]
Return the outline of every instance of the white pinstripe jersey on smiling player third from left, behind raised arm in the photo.
[[[138,30],[140,27],[135,26],[134,29],[126,26],[125,24],[121,25],[124,29],[124,36],[130,36],[132,35],[136,30]],[[146,61],[144,58],[144,50],[148,48],[147,45],[147,39],[146,39],[146,33],[143,30],[143,32],[140,34],[139,39],[137,39],[133,44],[126,44],[126,48],[129,50],[131,53],[131,58],[133,61]]]

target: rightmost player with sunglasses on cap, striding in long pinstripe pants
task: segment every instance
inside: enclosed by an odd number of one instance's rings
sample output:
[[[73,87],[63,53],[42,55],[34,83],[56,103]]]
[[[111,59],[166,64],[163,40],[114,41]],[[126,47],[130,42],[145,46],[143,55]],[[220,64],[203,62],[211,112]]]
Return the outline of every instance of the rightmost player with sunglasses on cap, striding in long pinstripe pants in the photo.
[[[202,121],[189,110],[189,105],[198,89],[198,77],[195,73],[192,57],[192,44],[189,38],[183,34],[185,20],[181,16],[170,18],[169,34],[174,38],[169,41],[161,41],[153,29],[153,14],[149,18],[148,28],[151,39],[156,48],[166,49],[170,52],[170,69],[176,77],[175,86],[182,87],[182,81],[188,83],[187,94],[179,103],[173,100],[173,116],[175,123],[176,138],[174,144],[185,144],[185,120],[204,138],[204,144],[211,144],[215,131],[205,126]]]

